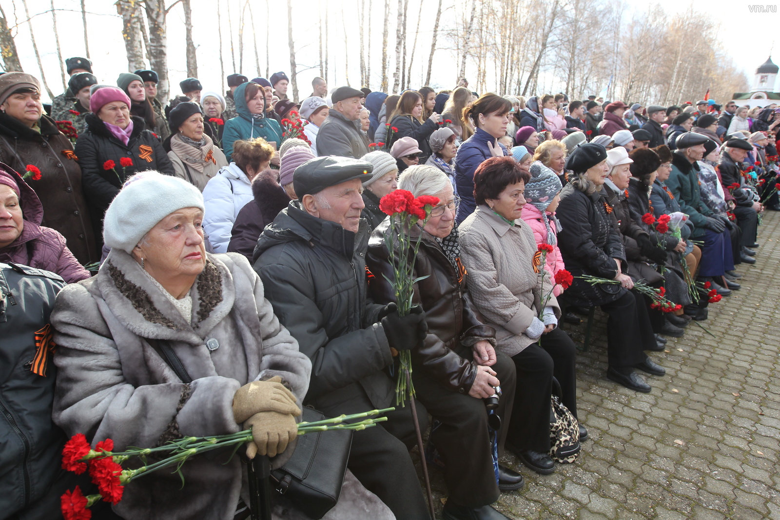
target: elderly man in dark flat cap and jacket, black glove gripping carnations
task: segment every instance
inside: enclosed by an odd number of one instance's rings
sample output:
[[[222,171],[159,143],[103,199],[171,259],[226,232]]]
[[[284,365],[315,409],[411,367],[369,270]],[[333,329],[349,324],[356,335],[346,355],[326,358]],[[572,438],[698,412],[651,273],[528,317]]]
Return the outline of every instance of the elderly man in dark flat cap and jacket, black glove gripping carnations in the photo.
[[[293,174],[298,200],[265,228],[254,249],[265,297],[314,364],[303,405],[327,416],[392,406],[392,349],[417,348],[427,331],[419,307],[400,317],[395,304],[367,299],[371,230],[360,218],[361,181],[372,171],[370,162],[346,157],[301,164]],[[385,415],[386,423],[355,433],[347,466],[396,518],[427,520],[408,451],[416,439],[410,407]],[[427,413],[420,419],[426,423]]]

